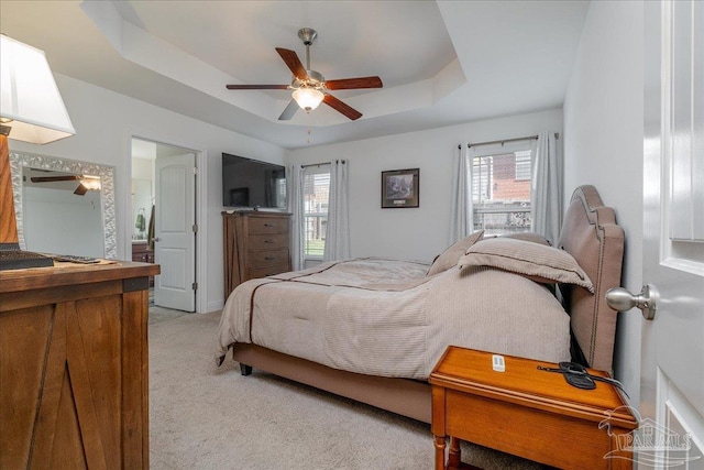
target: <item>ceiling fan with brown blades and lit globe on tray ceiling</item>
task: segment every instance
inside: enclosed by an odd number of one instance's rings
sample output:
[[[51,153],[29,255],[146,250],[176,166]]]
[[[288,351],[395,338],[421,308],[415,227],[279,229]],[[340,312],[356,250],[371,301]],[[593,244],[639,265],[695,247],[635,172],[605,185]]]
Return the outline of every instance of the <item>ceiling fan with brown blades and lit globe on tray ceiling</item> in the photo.
[[[290,85],[228,85],[230,90],[294,90],[292,100],[278,117],[279,121],[289,120],[294,117],[298,108],[307,112],[316,109],[320,102],[324,102],[332,109],[341,112],[351,120],[360,119],[362,113],[350,107],[338,98],[333,97],[328,90],[346,90],[360,88],[382,88],[382,79],[380,77],[358,77],[342,78],[337,80],[326,80],[319,72],[310,69],[310,45],[318,36],[316,30],[302,28],[298,31],[306,46],[306,67],[301,64],[295,51],[276,47],[276,52],[284,59],[294,79]]]

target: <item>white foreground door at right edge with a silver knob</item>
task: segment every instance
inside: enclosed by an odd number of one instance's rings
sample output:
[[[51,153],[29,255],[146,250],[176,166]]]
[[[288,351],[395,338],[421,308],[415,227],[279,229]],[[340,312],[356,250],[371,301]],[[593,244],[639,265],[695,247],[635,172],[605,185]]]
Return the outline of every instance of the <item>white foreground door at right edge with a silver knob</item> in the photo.
[[[704,2],[645,2],[639,468],[704,469]],[[626,182],[625,182],[626,183]]]

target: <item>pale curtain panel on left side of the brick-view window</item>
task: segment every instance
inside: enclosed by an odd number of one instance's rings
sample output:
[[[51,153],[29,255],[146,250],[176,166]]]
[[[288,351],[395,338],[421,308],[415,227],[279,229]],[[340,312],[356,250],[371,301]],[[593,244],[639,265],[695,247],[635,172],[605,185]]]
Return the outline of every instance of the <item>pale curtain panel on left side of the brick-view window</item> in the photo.
[[[466,144],[460,144],[452,178],[449,245],[473,232],[472,165]]]

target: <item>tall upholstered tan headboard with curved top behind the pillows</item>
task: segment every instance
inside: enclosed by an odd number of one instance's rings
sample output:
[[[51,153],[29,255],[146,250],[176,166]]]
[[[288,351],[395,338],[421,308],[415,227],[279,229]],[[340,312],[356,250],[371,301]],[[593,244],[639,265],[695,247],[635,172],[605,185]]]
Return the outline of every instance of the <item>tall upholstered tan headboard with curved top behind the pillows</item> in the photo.
[[[594,284],[594,294],[560,285],[573,340],[590,367],[610,372],[617,313],[606,305],[604,294],[620,286],[624,230],[594,186],[580,186],[572,194],[558,248],[572,254]]]

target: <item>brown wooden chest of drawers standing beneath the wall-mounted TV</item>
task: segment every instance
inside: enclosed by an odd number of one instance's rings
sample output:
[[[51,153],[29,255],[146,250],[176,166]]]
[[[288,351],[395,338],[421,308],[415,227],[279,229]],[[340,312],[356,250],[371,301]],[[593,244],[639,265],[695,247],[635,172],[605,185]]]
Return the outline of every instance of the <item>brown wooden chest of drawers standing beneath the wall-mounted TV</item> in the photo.
[[[290,271],[290,214],[222,212],[224,298],[244,281]]]

